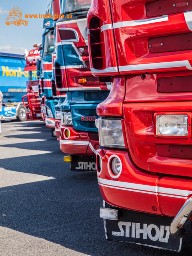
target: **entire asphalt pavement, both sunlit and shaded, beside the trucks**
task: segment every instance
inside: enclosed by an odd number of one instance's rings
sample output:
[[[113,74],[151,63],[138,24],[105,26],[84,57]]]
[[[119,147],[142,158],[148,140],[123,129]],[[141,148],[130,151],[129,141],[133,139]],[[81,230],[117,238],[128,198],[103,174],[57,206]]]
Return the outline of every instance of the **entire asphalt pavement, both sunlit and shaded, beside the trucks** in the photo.
[[[71,172],[41,122],[3,122],[0,135],[0,256],[186,256],[107,241],[96,173]],[[171,206],[170,206],[171,207]]]

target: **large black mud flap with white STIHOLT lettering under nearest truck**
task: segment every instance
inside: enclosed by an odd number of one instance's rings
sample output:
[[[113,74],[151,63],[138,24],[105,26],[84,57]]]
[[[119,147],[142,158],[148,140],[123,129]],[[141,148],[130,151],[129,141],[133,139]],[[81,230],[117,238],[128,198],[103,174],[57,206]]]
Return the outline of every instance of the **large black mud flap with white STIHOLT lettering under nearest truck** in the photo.
[[[106,208],[110,208],[108,204]],[[182,238],[170,235],[173,218],[118,209],[118,220],[104,219],[106,239],[180,252]]]

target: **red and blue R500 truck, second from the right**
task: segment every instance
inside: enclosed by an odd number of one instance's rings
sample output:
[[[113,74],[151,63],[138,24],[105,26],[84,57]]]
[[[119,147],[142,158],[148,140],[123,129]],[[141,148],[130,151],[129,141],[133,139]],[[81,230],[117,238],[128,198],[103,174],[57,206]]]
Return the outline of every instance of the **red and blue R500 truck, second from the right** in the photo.
[[[100,80],[90,71],[87,12],[91,1],[60,1],[62,18],[56,22],[56,89],[66,92],[60,105],[60,149],[69,154],[71,170],[96,171],[99,147],[96,106],[110,92],[110,79]]]

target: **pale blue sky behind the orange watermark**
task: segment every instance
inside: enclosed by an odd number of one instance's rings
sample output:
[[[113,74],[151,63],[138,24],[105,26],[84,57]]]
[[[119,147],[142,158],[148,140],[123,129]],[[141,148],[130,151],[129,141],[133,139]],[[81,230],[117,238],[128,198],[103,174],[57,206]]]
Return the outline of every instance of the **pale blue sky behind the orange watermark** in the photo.
[[[34,44],[42,42],[43,19],[26,19],[24,14],[45,14],[50,0],[0,0],[0,52],[24,54]],[[18,6],[22,10],[22,19],[28,20],[28,26],[5,24],[10,8]]]

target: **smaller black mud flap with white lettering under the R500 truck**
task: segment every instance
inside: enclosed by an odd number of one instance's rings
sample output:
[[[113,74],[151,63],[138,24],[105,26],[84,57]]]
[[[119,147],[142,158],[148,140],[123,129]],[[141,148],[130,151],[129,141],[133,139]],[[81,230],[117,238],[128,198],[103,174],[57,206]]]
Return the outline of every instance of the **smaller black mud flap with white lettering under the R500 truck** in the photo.
[[[72,156],[70,167],[75,172],[96,172],[96,156]]]

